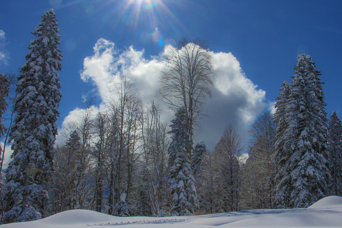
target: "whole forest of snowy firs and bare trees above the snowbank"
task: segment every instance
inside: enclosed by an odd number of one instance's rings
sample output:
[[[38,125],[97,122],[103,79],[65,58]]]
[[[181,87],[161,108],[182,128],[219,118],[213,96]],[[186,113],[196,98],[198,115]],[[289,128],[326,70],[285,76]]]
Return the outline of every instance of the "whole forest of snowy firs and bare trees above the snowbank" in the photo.
[[[115,216],[183,216],[306,208],[342,196],[342,124],[328,118],[320,71],[300,54],[275,114],[263,112],[244,145],[226,126],[213,151],[195,142],[215,71],[206,42],[181,38],[165,56],[156,99],[144,106],[129,75],[106,111],[84,103],[55,144],[62,93],[60,35],[52,9],[32,32],[19,75],[0,73],[1,224],[73,209]],[[161,121],[161,107],[174,119]],[[6,121],[3,121],[6,114]],[[248,158],[245,156],[248,152]]]

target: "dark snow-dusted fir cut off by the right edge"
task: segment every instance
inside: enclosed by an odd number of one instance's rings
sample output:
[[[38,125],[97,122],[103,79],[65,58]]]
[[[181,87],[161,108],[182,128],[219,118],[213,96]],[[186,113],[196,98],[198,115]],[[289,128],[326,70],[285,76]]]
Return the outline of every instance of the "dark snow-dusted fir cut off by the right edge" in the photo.
[[[331,173],[330,193],[342,196],[342,123],[335,111],[331,113],[329,120],[328,151]]]

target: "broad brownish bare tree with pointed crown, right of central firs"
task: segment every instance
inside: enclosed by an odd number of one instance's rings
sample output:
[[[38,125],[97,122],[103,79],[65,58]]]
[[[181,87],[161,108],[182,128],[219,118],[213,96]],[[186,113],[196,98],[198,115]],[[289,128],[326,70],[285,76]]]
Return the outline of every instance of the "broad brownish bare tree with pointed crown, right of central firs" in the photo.
[[[201,213],[241,209],[241,137],[233,125],[226,126],[214,151],[207,154],[198,173]]]

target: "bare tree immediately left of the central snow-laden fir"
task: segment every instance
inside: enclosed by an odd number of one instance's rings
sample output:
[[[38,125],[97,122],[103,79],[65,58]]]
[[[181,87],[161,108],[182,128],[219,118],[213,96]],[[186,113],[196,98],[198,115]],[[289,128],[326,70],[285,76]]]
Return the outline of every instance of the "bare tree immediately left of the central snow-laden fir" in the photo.
[[[143,124],[143,155],[141,198],[148,198],[148,210],[141,211],[141,215],[157,216],[167,204],[167,154],[170,138],[167,134],[167,123],[160,121],[161,109],[154,101],[147,107]],[[142,199],[143,201],[145,199]],[[146,201],[146,200],[145,200]]]

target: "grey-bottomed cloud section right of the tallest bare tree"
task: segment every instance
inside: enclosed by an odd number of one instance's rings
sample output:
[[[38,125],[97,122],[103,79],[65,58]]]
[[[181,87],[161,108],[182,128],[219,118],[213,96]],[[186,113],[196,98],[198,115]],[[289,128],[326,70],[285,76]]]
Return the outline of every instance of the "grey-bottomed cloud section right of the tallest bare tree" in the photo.
[[[200,135],[211,149],[229,124],[233,124],[246,142],[250,124],[266,107],[266,92],[257,89],[258,85],[246,77],[232,53],[212,54],[216,70],[215,87],[212,99],[207,100],[203,109],[208,118],[203,119]]]

